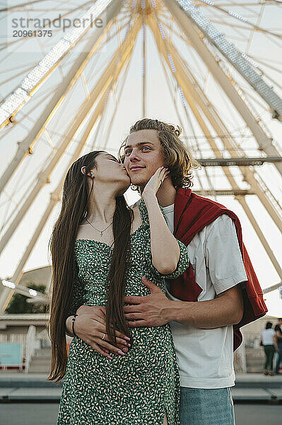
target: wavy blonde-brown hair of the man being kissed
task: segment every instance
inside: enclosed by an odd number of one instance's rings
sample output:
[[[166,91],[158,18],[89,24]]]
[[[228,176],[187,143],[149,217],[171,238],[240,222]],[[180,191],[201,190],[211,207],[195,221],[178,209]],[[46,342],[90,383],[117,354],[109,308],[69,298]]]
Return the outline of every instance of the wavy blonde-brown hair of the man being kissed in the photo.
[[[170,169],[172,184],[176,189],[189,188],[192,183],[192,169],[197,169],[201,165],[192,157],[187,147],[180,139],[182,129],[179,125],[175,126],[163,121],[143,118],[131,126],[129,134],[139,130],[157,130],[158,139],[163,151],[164,165]],[[119,147],[119,162],[124,162],[124,147],[127,144],[129,135]],[[139,191],[139,186],[131,185],[134,191]],[[139,191],[140,193],[140,191]]]

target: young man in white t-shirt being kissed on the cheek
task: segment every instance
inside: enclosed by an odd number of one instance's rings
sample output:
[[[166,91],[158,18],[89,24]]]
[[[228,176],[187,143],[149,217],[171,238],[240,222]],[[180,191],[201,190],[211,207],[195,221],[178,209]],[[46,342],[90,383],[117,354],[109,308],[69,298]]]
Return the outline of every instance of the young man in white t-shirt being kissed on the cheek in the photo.
[[[233,425],[233,325],[242,322],[249,308],[246,293],[243,297],[243,283],[248,280],[243,258],[247,254],[234,213],[196,197],[189,189],[196,162],[179,135],[180,130],[171,125],[143,119],[131,127],[119,151],[119,159],[139,193],[158,167],[170,169],[157,193],[158,203],[164,208],[171,232],[187,245],[191,263],[182,279],[166,282],[167,296],[143,277],[151,295],[126,297],[125,302],[131,305],[124,306],[124,313],[129,326],[134,327],[170,322],[180,366],[181,425]],[[247,266],[252,268],[248,262]],[[252,289],[253,298],[262,304],[257,315],[263,315],[266,308],[261,294]],[[102,341],[102,308],[82,306],[77,312],[76,334],[100,353],[103,349],[114,352]],[[69,331],[70,321],[71,317],[66,320]],[[236,348],[238,337],[240,334],[234,339]],[[122,339],[119,344],[126,352]]]

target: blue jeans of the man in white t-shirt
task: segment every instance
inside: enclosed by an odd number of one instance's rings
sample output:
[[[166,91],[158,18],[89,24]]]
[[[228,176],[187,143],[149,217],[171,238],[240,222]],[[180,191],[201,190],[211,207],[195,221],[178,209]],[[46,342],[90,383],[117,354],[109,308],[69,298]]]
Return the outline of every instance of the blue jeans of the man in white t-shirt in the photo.
[[[235,425],[230,388],[181,387],[180,425]]]

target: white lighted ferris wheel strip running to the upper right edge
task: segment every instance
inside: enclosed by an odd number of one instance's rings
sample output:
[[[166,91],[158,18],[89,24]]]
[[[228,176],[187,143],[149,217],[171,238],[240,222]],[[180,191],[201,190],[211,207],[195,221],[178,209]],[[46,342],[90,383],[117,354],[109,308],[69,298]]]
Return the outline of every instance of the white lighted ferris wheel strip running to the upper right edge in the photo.
[[[274,118],[282,120],[282,100],[262,79],[262,75],[253,69],[249,64],[249,59],[244,57],[231,42],[226,40],[225,35],[221,33],[206,16],[196,8],[191,0],[175,0],[184,10],[189,18],[201,30],[206,38],[215,45],[223,56],[233,64],[237,72],[244,77],[255,91],[269,104]]]

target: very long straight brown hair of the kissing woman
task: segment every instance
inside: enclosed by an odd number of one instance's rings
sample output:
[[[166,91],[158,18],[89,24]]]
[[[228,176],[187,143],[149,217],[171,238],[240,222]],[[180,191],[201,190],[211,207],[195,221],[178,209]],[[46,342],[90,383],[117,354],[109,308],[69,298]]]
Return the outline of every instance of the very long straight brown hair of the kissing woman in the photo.
[[[88,177],[90,169],[96,168],[96,158],[105,151],[94,151],[78,158],[71,165],[64,181],[61,211],[54,224],[49,241],[52,255],[52,279],[49,295],[48,334],[52,344],[51,371],[47,380],[59,383],[65,375],[67,363],[66,317],[74,294],[74,282],[77,278],[77,266],[74,256],[74,244],[78,226],[89,215]],[[86,166],[86,173],[81,167]],[[95,186],[94,186],[95,190]],[[133,212],[124,196],[117,196],[113,216],[114,249],[107,276],[106,327],[107,335],[116,344],[115,330],[127,336],[131,332],[124,317],[124,290],[127,277],[127,264],[130,257],[130,230]],[[81,305],[83,302],[81,302]],[[110,325],[113,325],[111,327]]]

